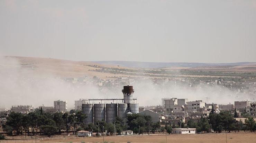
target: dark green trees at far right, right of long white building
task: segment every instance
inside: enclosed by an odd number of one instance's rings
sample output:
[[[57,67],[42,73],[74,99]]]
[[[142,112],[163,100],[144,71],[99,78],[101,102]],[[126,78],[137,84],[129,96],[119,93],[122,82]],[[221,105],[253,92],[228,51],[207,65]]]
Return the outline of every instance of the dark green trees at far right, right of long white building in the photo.
[[[192,119],[188,121],[187,126],[189,128],[196,128],[198,133],[211,132],[213,130],[216,133],[224,131],[256,131],[256,122],[252,117],[249,117],[243,121],[236,121],[234,117],[237,117],[237,113],[232,114],[230,111],[221,111],[216,113],[212,109],[208,118],[201,118],[198,122],[194,122]]]

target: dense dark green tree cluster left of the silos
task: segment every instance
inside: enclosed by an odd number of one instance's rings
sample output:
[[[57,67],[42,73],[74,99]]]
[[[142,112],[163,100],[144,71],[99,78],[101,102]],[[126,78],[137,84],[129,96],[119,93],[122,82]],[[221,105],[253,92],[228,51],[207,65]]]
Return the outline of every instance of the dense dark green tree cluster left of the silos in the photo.
[[[15,132],[17,135],[35,135],[39,131],[40,135],[51,136],[57,131],[61,134],[61,130],[68,131],[73,128],[76,129],[83,124],[83,120],[86,115],[81,111],[75,113],[45,113],[42,109],[35,110],[28,114],[21,114],[18,112],[11,112],[7,117],[7,122],[3,125],[3,131],[8,135],[13,135]],[[30,134],[31,133],[31,134]]]

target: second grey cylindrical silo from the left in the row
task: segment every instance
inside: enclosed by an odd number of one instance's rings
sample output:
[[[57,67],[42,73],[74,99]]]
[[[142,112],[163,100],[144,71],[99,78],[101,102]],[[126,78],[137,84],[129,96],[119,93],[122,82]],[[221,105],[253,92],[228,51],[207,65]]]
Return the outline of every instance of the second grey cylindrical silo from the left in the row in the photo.
[[[105,104],[94,104],[94,123],[105,121]]]

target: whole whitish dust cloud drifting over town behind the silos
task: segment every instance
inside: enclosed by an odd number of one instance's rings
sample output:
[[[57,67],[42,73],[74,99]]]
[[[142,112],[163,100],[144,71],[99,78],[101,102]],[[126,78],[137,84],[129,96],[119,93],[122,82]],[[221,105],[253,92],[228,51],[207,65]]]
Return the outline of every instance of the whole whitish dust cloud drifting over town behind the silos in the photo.
[[[31,64],[22,64],[15,57],[0,57],[0,104],[6,108],[12,105],[27,104],[37,108],[39,106],[53,106],[53,101],[67,101],[67,107],[74,107],[74,100],[96,98],[122,98],[122,86],[133,85],[134,98],[138,99],[140,106],[152,106],[162,104],[161,98],[188,98],[190,101],[203,100],[208,103],[229,104],[235,100],[246,100],[249,97],[232,92],[219,85],[208,86],[199,84],[190,86],[187,84],[157,85],[151,78],[136,80],[132,83],[124,82],[115,88],[99,86],[93,83],[93,78],[88,77],[82,83],[73,83],[58,75],[39,75]],[[65,72],[65,71],[63,71]],[[86,76],[86,75],[84,75]],[[73,79],[72,79],[73,80]]]

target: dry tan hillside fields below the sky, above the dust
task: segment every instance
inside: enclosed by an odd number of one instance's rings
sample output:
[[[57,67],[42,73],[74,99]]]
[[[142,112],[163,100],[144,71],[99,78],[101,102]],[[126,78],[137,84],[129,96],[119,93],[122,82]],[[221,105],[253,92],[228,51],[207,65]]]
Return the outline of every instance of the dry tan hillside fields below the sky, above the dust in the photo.
[[[96,67],[91,67],[88,65],[98,65],[108,68],[116,69],[138,69],[129,67],[120,67],[115,65],[101,65],[93,62],[83,62],[83,61],[68,61],[62,59],[53,58],[36,58],[36,57],[7,57],[7,63],[0,62],[0,70],[17,71],[21,75],[33,75],[34,77],[83,77],[83,76],[97,76],[100,78],[108,79],[110,77],[120,77],[120,76],[130,76],[139,77],[140,75],[126,75],[126,74],[113,74],[113,73],[103,73],[94,72],[92,70],[99,69]],[[11,62],[10,62],[11,61]],[[212,67],[167,67],[163,68],[165,70],[188,70],[188,71],[219,71],[219,72],[256,72],[256,64],[254,65],[243,65],[243,66],[212,66]],[[155,69],[150,69],[155,70]],[[160,70],[160,69],[158,69]],[[159,74],[158,74],[159,75]],[[179,76],[177,75],[173,76]],[[145,75],[144,75],[145,76]],[[218,76],[208,76],[208,75],[182,75],[184,77],[220,77]],[[150,77],[150,76],[146,76]],[[152,77],[150,77],[152,78]]]

